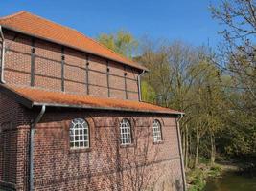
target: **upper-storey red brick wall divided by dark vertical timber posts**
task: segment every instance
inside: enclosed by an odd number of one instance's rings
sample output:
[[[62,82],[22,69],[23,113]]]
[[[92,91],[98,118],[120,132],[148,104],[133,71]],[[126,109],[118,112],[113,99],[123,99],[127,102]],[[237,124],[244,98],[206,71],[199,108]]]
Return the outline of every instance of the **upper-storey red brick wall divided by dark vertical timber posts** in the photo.
[[[30,86],[32,76],[32,38],[16,32],[5,32],[5,79],[8,84]],[[35,87],[61,91],[61,46],[35,39]],[[64,91],[91,96],[138,100],[139,72],[105,58],[64,48]],[[88,76],[86,63],[88,65]],[[107,67],[109,84],[107,84]],[[127,74],[125,76],[125,73]],[[125,77],[127,79],[125,79]],[[87,81],[88,79],[88,81]],[[125,80],[127,80],[127,93]]]

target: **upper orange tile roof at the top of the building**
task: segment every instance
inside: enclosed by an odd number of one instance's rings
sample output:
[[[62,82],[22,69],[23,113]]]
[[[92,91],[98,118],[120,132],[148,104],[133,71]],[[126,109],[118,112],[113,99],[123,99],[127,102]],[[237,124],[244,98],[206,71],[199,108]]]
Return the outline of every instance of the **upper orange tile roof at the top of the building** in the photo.
[[[140,70],[148,70],[136,62],[114,53],[81,32],[61,26],[27,11],[20,11],[0,18],[0,25],[10,30],[53,41],[86,53],[100,55]]]

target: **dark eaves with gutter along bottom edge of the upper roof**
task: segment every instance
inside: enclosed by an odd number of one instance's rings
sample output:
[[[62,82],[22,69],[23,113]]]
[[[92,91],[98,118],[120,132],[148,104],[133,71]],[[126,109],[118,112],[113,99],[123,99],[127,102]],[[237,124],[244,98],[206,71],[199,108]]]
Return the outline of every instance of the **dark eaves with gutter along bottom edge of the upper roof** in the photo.
[[[85,50],[85,49],[83,50],[83,49],[80,49],[80,48],[78,48],[78,47],[75,47],[75,46],[71,46],[71,45],[62,43],[62,42],[60,42],[60,41],[58,41],[58,40],[53,40],[53,39],[50,39],[50,38],[42,37],[42,36],[40,36],[40,35],[35,35],[35,34],[33,34],[33,33],[30,33],[30,32],[24,32],[24,31],[22,31],[22,30],[18,30],[18,29],[16,29],[16,28],[13,28],[13,27],[10,27],[10,26],[7,26],[7,25],[3,25],[3,24],[0,24],[0,26],[2,26],[3,28],[5,28],[5,29],[7,29],[7,30],[11,30],[11,31],[14,31],[14,32],[19,32],[19,33],[22,33],[22,34],[25,34],[25,35],[33,36],[33,37],[38,38],[38,39],[41,39],[41,40],[46,40],[46,41],[48,41],[48,42],[52,42],[52,43],[55,43],[55,44],[59,44],[59,45],[65,46],[65,47],[69,47],[69,48],[75,49],[75,50],[77,50],[77,51],[81,51],[81,52],[85,52],[85,53],[90,53],[90,54],[98,55],[98,56],[100,56],[100,57],[103,57],[103,58],[106,58],[106,59],[110,59],[110,60],[112,60],[112,61],[115,61],[115,62],[118,62],[118,63],[122,63],[122,64],[124,64],[124,65],[128,65],[128,66],[130,66],[130,67],[132,67],[132,68],[136,68],[136,69],[140,69],[140,70],[142,70],[142,71],[147,71],[147,72],[149,72],[149,69],[146,68],[146,67],[144,67],[144,66],[133,66],[132,64],[128,64],[128,63],[125,63],[125,62],[121,62],[121,61],[119,61],[119,60],[117,60],[117,59],[109,58],[109,57],[104,56],[104,55],[99,54],[99,53],[93,53],[93,52],[88,51],[88,50]]]

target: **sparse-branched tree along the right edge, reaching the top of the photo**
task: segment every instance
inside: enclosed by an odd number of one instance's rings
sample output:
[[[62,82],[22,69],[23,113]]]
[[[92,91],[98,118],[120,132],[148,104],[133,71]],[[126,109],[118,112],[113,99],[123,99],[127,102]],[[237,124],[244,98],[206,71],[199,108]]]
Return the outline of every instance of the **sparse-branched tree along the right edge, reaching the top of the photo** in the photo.
[[[256,156],[256,2],[224,0],[211,6],[211,11],[223,28],[224,43],[216,64],[231,78],[224,88],[229,112],[221,144],[228,154]]]

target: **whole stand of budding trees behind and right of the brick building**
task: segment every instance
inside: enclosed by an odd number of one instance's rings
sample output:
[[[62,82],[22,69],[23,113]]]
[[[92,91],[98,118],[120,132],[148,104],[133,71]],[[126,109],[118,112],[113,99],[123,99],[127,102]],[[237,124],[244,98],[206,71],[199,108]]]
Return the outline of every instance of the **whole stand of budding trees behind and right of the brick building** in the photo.
[[[223,6],[234,6],[234,2],[224,1]],[[221,8],[212,8],[216,18],[231,9]],[[244,41],[232,42],[232,32],[226,32],[221,32],[226,40],[221,56],[181,41],[147,40],[140,42],[141,53],[133,58],[150,69],[142,76],[142,99],[186,114],[180,124],[186,169],[197,167],[200,158],[214,164],[218,155],[256,155],[255,61],[252,54],[234,46]],[[131,56],[138,42],[130,34],[131,38],[122,35],[102,34],[100,42]]]

